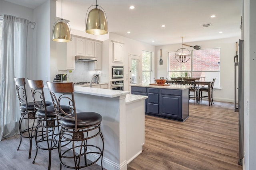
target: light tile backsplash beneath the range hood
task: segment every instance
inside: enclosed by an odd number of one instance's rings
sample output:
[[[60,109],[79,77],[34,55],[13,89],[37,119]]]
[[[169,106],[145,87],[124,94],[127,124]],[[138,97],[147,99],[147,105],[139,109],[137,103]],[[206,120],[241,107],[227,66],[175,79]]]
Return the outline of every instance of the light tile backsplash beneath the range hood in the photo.
[[[58,70],[58,74],[67,74],[68,82],[90,82],[93,74],[100,71],[89,70],[89,62],[76,61],[75,70]]]

